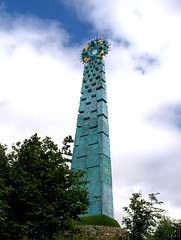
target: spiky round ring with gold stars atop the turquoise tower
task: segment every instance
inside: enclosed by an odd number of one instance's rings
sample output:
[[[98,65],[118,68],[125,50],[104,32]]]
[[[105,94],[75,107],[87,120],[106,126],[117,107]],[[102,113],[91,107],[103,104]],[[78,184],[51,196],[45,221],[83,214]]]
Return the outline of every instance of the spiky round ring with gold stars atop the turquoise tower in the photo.
[[[88,61],[95,60],[96,58],[102,58],[108,54],[110,44],[107,40],[102,38],[96,38],[88,43],[88,45],[82,50],[81,62],[87,63]]]

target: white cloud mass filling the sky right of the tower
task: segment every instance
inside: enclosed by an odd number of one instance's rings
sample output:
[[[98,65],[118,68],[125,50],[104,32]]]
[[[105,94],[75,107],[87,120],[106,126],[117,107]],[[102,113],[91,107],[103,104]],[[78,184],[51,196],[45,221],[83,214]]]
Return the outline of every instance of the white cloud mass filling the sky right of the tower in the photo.
[[[121,222],[121,208],[142,189],[160,192],[180,218],[180,119],[163,109],[181,103],[179,1],[68,2],[112,44],[106,70],[115,217]]]

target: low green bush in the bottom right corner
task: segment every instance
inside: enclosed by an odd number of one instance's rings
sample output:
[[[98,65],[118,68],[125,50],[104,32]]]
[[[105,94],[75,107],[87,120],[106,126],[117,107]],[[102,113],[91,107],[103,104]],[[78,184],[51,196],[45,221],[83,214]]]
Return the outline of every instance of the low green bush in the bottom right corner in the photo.
[[[163,217],[154,233],[153,240],[181,239],[181,220]]]

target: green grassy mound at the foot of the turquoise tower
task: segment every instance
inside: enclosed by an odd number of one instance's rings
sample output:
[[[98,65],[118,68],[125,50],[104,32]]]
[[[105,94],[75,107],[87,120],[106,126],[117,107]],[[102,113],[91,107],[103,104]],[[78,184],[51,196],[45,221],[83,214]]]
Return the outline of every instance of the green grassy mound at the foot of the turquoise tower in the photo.
[[[74,221],[74,225],[100,225],[120,227],[119,223],[104,214],[80,217],[80,221]]]

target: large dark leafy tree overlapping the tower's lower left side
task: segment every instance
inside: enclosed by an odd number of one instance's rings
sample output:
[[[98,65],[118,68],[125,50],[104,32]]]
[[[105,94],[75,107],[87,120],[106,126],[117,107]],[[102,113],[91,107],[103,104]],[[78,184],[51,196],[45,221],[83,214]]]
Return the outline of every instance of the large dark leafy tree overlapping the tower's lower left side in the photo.
[[[59,150],[51,138],[41,141],[35,134],[13,145],[9,154],[1,145],[6,174],[0,177],[0,239],[53,239],[87,211],[84,172],[73,172],[67,164],[72,141],[65,138]]]

